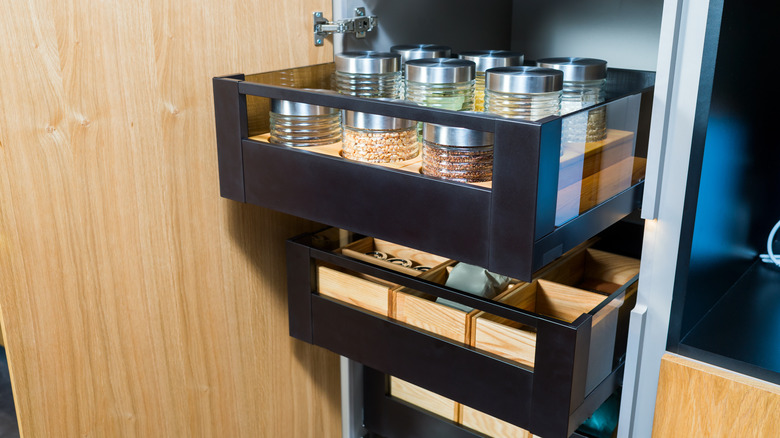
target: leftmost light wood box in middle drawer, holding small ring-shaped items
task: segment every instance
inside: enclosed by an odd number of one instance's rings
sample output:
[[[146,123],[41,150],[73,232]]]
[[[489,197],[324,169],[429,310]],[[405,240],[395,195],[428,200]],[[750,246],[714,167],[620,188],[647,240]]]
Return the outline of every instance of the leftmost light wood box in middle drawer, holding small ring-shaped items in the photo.
[[[372,251],[381,251],[395,258],[409,260],[412,262],[412,266],[404,267],[367,254]],[[436,267],[447,262],[447,259],[444,257],[372,237],[359,239],[337,249],[335,252],[412,276],[418,276],[425,272],[414,269],[415,267]],[[393,314],[391,291],[398,287],[397,284],[324,263],[317,266],[317,278],[317,291],[320,295],[383,316],[391,316]]]

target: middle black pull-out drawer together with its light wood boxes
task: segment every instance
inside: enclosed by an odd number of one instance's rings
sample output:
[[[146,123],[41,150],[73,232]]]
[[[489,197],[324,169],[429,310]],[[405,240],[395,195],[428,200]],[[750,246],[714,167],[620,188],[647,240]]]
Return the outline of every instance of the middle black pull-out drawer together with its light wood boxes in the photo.
[[[338,229],[301,236],[287,246],[290,333],[440,394],[473,429],[489,417],[568,438],[619,384],[636,298],[639,261],[592,244],[486,299],[447,285],[457,261]]]

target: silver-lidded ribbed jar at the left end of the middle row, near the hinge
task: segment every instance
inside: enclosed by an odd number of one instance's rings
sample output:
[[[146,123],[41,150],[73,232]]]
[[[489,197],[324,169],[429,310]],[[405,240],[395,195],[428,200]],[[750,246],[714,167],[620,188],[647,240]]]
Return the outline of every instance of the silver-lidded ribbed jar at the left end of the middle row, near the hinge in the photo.
[[[334,88],[341,94],[397,99],[401,92],[401,55],[351,51],[335,56]]]

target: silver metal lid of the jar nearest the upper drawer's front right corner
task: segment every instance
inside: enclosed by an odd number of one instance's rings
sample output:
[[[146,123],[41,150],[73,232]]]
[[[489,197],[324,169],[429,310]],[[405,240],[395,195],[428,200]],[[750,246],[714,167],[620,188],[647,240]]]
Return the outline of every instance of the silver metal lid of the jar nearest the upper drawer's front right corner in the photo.
[[[550,93],[563,89],[563,73],[551,68],[497,67],[485,75],[485,89],[500,93]]]

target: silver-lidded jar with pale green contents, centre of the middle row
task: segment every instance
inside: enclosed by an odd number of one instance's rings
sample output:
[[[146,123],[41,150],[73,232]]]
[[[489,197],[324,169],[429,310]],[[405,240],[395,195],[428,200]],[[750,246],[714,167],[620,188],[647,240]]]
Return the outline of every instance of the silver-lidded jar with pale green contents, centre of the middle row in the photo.
[[[455,111],[474,109],[475,64],[453,58],[414,59],[405,65],[406,100]]]

